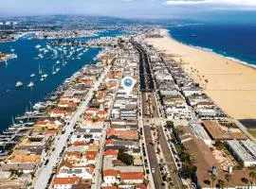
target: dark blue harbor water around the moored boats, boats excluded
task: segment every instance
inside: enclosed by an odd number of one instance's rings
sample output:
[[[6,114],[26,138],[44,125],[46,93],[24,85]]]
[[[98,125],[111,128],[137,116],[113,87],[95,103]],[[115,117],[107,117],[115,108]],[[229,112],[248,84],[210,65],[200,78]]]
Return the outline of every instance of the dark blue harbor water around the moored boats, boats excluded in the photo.
[[[103,36],[124,35],[126,32],[120,30],[111,30],[101,32],[98,37],[82,38],[83,41],[95,39]],[[29,109],[29,102],[32,104],[43,100],[46,94],[54,91],[64,79],[71,77],[83,65],[93,62],[93,59],[101,50],[100,48],[89,48],[82,55],[81,60],[67,60],[59,73],[52,75],[52,65],[56,60],[50,59],[50,56],[43,60],[35,60],[38,56],[38,50],[35,45],[46,45],[48,40],[27,40],[20,39],[16,42],[0,43],[0,51],[9,53],[10,48],[15,49],[18,58],[9,60],[8,64],[0,62],[0,131],[6,129],[11,124],[11,116],[15,117]],[[30,78],[30,74],[38,74],[39,63],[41,68],[48,74],[45,81],[40,81],[39,77]],[[18,80],[24,83],[22,88],[16,88]],[[28,89],[27,84],[33,81],[35,87]]]

